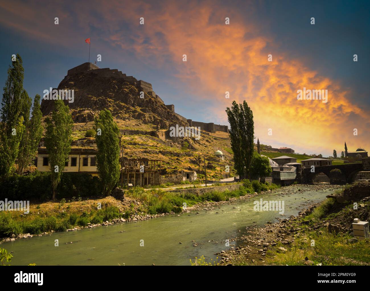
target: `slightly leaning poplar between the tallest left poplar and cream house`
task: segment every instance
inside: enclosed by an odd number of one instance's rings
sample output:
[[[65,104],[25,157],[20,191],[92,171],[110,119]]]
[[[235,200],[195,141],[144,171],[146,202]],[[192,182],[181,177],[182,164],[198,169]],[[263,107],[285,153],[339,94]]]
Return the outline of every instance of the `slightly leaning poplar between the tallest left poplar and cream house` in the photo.
[[[19,144],[18,153],[18,169],[17,174],[22,175],[27,169],[31,160],[36,157],[38,143],[43,134],[43,127],[41,125],[42,113],[40,109],[40,95],[36,94],[33,101],[32,117],[30,118],[31,98],[27,96],[23,98],[24,104],[22,114],[24,118],[24,132]]]

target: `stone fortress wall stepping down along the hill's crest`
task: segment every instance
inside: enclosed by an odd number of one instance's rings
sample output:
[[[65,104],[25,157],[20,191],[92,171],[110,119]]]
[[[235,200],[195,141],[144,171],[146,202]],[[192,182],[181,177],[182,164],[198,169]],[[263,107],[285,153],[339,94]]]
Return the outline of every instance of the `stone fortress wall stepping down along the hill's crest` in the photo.
[[[75,73],[97,74],[98,76],[104,77],[104,78],[113,77],[113,78],[123,79],[129,83],[134,83],[135,86],[138,87],[140,90],[144,91],[149,96],[158,98],[158,100],[162,104],[165,105],[163,100],[153,91],[152,84],[145,82],[143,80],[137,80],[136,78],[132,76],[126,76],[126,74],[123,74],[121,71],[118,71],[117,69],[99,68],[97,65],[93,63],[84,63],[84,64],[81,64],[80,66],[77,66],[77,67],[74,67],[68,70],[67,75],[75,74]],[[200,127],[201,131],[209,131],[211,133],[214,133],[216,131],[224,131],[226,133],[229,132],[229,127],[227,125],[192,121],[191,119],[186,119],[184,116],[177,114],[175,112],[174,104],[165,105],[165,106],[169,110],[171,110],[179,119],[183,120],[185,123],[188,123],[188,126]]]

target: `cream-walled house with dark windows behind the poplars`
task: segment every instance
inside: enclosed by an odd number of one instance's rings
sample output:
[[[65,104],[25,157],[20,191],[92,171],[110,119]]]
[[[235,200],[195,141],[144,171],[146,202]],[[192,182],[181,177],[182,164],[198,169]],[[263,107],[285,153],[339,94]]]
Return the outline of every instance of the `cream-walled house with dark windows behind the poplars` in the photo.
[[[89,173],[93,176],[98,175],[96,168],[96,154],[98,150],[93,148],[71,148],[68,161],[64,165],[64,173],[79,172]],[[38,148],[36,160],[37,170],[40,172],[50,171],[50,163],[46,148]]]

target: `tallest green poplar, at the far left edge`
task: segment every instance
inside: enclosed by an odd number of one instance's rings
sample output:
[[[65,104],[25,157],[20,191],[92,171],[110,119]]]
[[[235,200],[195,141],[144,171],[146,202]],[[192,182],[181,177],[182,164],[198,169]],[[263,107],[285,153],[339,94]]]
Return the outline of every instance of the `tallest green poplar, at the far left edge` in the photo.
[[[0,177],[9,176],[14,170],[19,143],[24,130],[21,109],[23,105],[24,69],[22,58],[17,54],[9,66],[8,77],[3,88],[0,127]]]

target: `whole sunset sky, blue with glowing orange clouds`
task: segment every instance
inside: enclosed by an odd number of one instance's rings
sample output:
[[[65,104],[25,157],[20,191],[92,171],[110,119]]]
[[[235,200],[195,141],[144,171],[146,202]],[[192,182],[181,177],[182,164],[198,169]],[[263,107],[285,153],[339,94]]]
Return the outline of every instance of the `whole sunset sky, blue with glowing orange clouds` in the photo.
[[[43,96],[88,61],[90,37],[92,63],[151,83],[188,119],[228,124],[246,100],[262,144],[370,151],[369,19],[368,1],[1,1],[0,84],[19,53],[24,88]],[[327,102],[297,100],[303,88]]]

